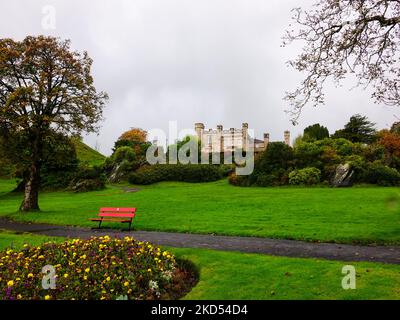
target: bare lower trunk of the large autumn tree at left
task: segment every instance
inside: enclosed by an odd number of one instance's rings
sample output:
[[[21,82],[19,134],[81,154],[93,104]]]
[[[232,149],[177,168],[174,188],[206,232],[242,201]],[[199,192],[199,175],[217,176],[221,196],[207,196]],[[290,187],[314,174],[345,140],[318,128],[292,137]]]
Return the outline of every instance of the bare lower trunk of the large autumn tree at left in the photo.
[[[39,188],[40,188],[40,165],[33,163],[30,167],[29,178],[25,184],[24,200],[20,211],[38,211],[39,209]]]

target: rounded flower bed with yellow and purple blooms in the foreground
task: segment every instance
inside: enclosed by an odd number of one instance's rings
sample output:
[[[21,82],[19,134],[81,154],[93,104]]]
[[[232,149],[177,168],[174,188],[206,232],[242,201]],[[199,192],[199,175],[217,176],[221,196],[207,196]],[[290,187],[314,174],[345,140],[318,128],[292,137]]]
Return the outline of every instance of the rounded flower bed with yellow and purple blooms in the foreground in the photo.
[[[196,282],[187,266],[128,237],[25,245],[0,252],[0,299],[177,299]]]

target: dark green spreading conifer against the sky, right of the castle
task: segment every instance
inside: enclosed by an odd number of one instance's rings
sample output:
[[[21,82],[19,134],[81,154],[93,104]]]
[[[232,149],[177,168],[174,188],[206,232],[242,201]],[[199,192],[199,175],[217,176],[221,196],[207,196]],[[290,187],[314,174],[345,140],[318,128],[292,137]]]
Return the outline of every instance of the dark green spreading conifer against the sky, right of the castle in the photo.
[[[333,137],[369,144],[377,139],[377,131],[375,123],[369,121],[366,116],[356,114],[350,118],[344,129],[336,131]]]

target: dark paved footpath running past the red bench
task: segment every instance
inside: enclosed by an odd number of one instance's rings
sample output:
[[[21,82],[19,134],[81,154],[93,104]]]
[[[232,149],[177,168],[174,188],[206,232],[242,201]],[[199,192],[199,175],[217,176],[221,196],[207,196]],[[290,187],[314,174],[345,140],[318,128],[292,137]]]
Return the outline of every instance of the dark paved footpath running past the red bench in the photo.
[[[48,224],[30,224],[0,218],[0,229],[30,232],[55,237],[87,239],[92,236],[131,236],[140,241],[178,248],[205,248],[223,251],[259,253],[273,256],[322,258],[340,261],[370,261],[400,264],[400,246],[358,246],[311,243],[267,238],[213,236],[186,233],[118,231]]]

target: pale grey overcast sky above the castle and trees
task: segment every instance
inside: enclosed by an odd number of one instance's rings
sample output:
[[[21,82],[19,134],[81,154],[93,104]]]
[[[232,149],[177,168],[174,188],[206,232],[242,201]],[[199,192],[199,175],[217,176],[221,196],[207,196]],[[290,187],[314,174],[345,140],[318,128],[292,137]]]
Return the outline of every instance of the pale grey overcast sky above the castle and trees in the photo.
[[[375,105],[368,92],[326,88],[326,105],[307,108],[293,127],[282,100],[301,79],[285,62],[300,47],[281,48],[291,8],[312,0],[13,0],[0,3],[0,37],[68,38],[94,59],[96,87],[110,95],[99,135],[86,136],[109,154],[130,127],[167,130],[240,127],[248,122],[258,137],[283,140],[319,122],[331,132],[355,113],[379,128],[396,110]],[[43,7],[54,6],[56,28],[43,29]],[[397,113],[398,114],[398,113]]]

